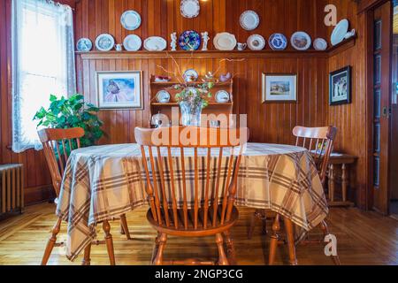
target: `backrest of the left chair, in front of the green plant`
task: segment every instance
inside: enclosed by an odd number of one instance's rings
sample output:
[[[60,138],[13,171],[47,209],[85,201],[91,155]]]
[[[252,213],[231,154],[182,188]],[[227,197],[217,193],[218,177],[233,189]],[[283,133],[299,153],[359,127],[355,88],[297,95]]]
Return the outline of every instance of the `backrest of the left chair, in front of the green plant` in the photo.
[[[84,136],[84,130],[80,127],[48,128],[40,130],[38,134],[50,168],[52,184],[58,197],[69,154],[73,149],[80,149],[80,138]]]

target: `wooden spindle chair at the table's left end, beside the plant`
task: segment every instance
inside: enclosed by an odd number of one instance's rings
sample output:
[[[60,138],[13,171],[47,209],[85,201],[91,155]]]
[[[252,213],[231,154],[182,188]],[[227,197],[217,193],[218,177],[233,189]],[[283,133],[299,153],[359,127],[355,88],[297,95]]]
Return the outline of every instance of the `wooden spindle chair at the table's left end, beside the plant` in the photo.
[[[84,136],[84,130],[80,127],[70,129],[42,129],[38,132],[40,141],[44,149],[44,156],[50,168],[50,175],[53,187],[57,197],[60,193],[62,176],[65,172],[65,165],[68,157],[73,149],[80,149],[80,138]],[[57,203],[57,200],[56,200]],[[57,218],[57,223],[52,229],[51,237],[47,243],[44,255],[42,256],[42,265],[46,265],[49,261],[52,249],[54,247],[61,247],[63,242],[57,243],[57,234],[60,231],[62,218]],[[123,231],[126,233],[127,239],[131,239],[128,231],[126,215],[120,217],[120,223]],[[111,264],[115,264],[115,256],[113,252],[113,243],[111,237],[111,226],[108,221],[103,221],[103,231],[105,232],[105,243],[108,248]],[[103,243],[95,241],[95,244]],[[83,264],[90,264],[91,244],[84,251]]]

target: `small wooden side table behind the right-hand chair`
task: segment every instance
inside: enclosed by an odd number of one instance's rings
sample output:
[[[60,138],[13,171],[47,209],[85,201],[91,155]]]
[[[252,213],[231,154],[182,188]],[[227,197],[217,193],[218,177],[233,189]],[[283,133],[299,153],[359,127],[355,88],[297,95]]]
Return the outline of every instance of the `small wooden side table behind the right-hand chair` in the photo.
[[[354,203],[348,202],[347,191],[349,187],[349,169],[350,165],[356,163],[358,157],[350,156],[348,154],[333,153],[329,159],[328,172],[328,188],[329,188],[329,206],[354,206]],[[336,167],[341,166],[341,195],[340,201],[335,200],[335,181],[336,181]]]

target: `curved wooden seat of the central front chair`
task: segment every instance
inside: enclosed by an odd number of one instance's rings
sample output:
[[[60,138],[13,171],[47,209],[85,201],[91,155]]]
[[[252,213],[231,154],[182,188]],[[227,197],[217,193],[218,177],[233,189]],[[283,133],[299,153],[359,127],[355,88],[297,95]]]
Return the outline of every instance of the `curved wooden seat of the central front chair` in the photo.
[[[210,235],[215,235],[217,233],[223,233],[226,230],[229,230],[236,220],[239,218],[239,211],[235,206],[233,206],[233,211],[231,213],[231,218],[229,221],[225,222],[224,224],[220,224],[220,214],[222,211],[221,205],[218,206],[218,216],[217,216],[217,221],[216,221],[216,226],[212,226],[212,213],[213,210],[209,210],[209,218],[207,220],[207,226],[203,226],[203,209],[199,210],[199,221],[197,224],[197,228],[195,229],[193,219],[194,219],[194,210],[188,210],[188,228],[184,226],[184,210],[180,209],[178,210],[178,224],[179,227],[178,229],[174,226],[174,223],[172,222],[172,210],[169,210],[169,216],[171,218],[170,220],[170,226],[167,226],[165,223],[165,215],[162,216],[162,225],[159,225],[157,221],[153,218],[152,212],[149,209],[147,212],[147,218],[151,226],[153,226],[158,232],[160,233],[166,233],[170,235],[175,235],[175,236],[184,236],[184,237],[206,237]]]

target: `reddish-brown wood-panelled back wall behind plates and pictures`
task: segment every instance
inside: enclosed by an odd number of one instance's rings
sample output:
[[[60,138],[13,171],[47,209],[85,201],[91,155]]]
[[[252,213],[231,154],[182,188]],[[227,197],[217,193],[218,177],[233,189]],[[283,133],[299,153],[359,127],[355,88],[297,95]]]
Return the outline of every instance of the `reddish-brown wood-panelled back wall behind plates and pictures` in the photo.
[[[151,35],[163,36],[194,29],[208,31],[213,37],[218,32],[235,34],[238,42],[246,42],[250,34],[265,38],[275,32],[290,37],[297,30],[307,31],[313,38],[324,36],[325,5],[322,1],[307,0],[217,0],[201,1],[198,18],[180,16],[179,0],[153,1],[89,1],[76,6],[76,38],[88,37],[93,42],[102,33],[112,34],[116,42],[123,42],[127,34],[138,34],[142,39]],[[133,9],[142,15],[142,27],[134,32],[120,25],[123,11]],[[241,12],[252,9],[261,16],[261,25],[247,32],[239,25]],[[212,49],[212,43],[209,44]],[[291,48],[290,48],[291,49]],[[202,75],[218,69],[217,59],[177,60],[180,69],[194,68]],[[90,102],[96,102],[96,71],[143,70],[144,111],[102,111],[106,137],[103,143],[134,142],[134,126],[149,126],[150,74],[166,74],[157,65],[173,69],[169,59],[96,59],[78,57],[79,90]],[[246,59],[242,62],[223,63],[222,71],[234,73],[233,89],[235,113],[248,114],[253,142],[292,142],[291,130],[295,125],[325,125],[327,118],[327,58],[293,56],[288,58]],[[261,103],[261,73],[298,73],[298,103]]]

